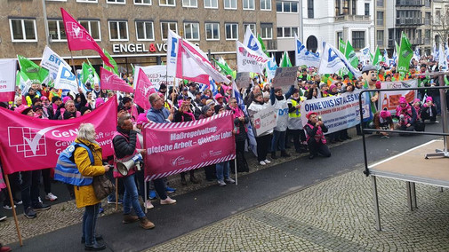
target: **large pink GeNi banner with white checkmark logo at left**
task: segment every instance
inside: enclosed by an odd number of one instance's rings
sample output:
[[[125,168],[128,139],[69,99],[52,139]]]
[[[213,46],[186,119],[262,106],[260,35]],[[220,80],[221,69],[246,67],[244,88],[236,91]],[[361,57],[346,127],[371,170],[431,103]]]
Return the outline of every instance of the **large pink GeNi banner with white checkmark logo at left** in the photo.
[[[103,157],[112,155],[116,107],[116,97],[112,97],[92,113],[62,121],[29,117],[0,107],[0,157],[4,172],[54,167],[59,154],[75,140],[82,122],[95,126]]]

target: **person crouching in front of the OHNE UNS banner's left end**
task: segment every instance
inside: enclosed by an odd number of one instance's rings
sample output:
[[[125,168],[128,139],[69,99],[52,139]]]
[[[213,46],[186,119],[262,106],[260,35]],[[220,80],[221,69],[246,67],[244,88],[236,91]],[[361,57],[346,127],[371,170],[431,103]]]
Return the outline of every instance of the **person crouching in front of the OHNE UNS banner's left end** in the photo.
[[[317,113],[312,111],[306,115],[306,118],[309,119],[304,126],[307,135],[307,144],[309,146],[309,159],[315,158],[318,154],[330,157],[331,151],[326,146],[325,140],[325,132],[327,132],[325,123],[321,121],[321,118],[318,118]]]

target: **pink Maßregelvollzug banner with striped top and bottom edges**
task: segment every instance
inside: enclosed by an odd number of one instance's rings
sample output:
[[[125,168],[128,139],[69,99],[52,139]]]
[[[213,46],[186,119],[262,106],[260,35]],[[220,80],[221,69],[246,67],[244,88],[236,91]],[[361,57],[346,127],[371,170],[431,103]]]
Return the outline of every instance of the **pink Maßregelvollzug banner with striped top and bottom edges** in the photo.
[[[144,125],[145,177],[167,177],[236,158],[232,114],[192,122]]]

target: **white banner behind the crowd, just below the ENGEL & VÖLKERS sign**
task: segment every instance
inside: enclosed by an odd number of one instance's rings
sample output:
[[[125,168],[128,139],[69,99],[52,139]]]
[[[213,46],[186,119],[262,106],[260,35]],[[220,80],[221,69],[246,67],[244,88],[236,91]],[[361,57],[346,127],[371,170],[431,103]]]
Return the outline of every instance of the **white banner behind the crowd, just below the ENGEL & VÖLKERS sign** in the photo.
[[[155,86],[156,90],[164,83],[167,87],[172,86],[174,82],[174,75],[167,75],[167,66],[148,66],[148,67],[135,67],[134,69],[134,83],[138,81],[139,68],[143,70],[143,73],[148,76],[148,79]],[[179,83],[180,79],[176,79],[176,83]]]

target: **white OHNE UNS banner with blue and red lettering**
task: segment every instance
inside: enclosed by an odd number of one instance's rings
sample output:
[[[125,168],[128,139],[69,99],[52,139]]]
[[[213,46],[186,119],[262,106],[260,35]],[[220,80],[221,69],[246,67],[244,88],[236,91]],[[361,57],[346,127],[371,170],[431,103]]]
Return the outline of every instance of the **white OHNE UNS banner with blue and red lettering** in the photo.
[[[359,92],[346,92],[341,96],[305,100],[301,106],[302,125],[306,125],[308,122],[306,114],[313,111],[323,118],[322,120],[329,130],[326,134],[356,126],[360,123]],[[369,111],[369,103],[365,99],[362,111],[364,118],[369,117]]]

